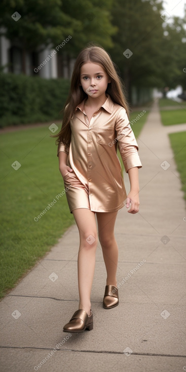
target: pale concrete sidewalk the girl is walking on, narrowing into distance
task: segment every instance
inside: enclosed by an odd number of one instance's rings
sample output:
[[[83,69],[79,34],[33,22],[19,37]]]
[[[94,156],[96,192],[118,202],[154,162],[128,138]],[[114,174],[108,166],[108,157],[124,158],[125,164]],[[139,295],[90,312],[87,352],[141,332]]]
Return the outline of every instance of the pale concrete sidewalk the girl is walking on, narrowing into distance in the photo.
[[[94,328],[63,332],[79,304],[73,225],[0,303],[2,372],[186,370],[185,202],[157,101],[146,119],[137,138],[140,210],[132,215],[124,207],[116,221],[119,306],[102,307],[106,271],[98,244]]]

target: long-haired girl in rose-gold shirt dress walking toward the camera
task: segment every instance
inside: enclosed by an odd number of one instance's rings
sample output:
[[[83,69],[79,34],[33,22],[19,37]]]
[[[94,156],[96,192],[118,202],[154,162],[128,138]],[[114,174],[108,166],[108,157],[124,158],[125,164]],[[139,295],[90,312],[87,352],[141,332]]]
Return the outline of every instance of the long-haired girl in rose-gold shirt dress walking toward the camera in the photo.
[[[70,94],[58,136],[59,170],[70,213],[80,234],[78,253],[79,310],[64,325],[64,332],[93,329],[91,288],[98,238],[106,267],[103,308],[119,304],[118,246],[114,227],[118,210],[139,210],[138,145],[128,119],[128,105],[114,63],[97,46],[83,49],[75,63]],[[129,175],[127,195],[117,150]],[[98,225],[98,234],[96,219]]]

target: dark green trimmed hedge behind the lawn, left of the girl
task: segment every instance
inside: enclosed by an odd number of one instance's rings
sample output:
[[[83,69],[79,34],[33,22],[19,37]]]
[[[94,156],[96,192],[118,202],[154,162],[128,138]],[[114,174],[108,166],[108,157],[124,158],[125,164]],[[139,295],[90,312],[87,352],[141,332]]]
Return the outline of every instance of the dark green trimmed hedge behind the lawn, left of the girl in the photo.
[[[68,79],[0,73],[0,127],[60,120]]]

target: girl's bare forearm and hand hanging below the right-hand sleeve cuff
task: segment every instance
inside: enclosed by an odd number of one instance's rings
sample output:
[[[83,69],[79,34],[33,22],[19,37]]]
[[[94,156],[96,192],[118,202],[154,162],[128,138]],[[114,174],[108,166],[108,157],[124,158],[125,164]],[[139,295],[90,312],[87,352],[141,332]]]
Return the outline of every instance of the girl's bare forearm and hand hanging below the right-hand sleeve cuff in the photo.
[[[137,213],[139,211],[139,179],[138,179],[138,167],[128,169],[128,175],[130,180],[130,192],[127,195],[126,207],[129,208],[130,203],[132,204],[129,213]]]

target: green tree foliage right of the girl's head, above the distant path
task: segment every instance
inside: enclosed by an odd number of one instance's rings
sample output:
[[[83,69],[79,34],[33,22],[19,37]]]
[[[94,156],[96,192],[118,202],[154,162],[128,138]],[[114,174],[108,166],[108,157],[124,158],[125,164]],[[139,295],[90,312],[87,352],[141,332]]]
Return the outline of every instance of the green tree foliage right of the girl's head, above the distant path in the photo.
[[[116,0],[113,24],[118,32],[113,35],[114,48],[110,54],[117,63],[131,100],[131,87],[185,86],[185,43],[183,19],[161,18],[163,2],[159,0]],[[133,55],[126,58],[123,52]]]

